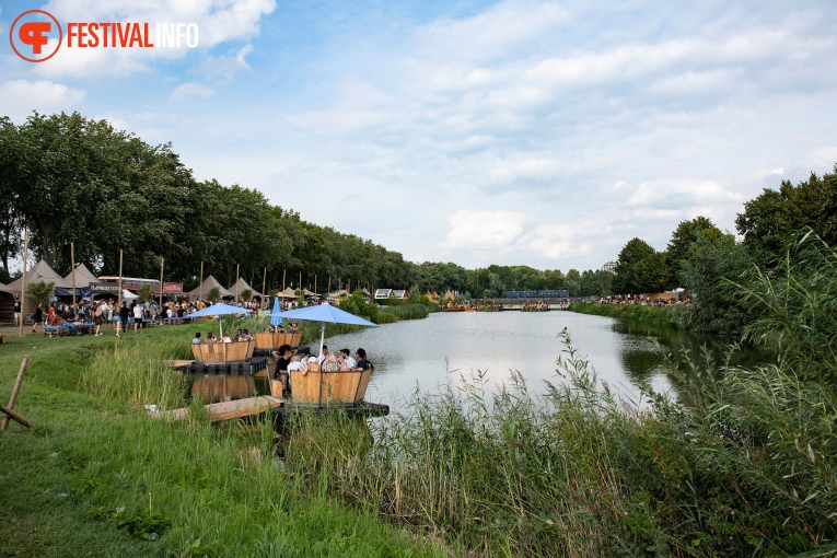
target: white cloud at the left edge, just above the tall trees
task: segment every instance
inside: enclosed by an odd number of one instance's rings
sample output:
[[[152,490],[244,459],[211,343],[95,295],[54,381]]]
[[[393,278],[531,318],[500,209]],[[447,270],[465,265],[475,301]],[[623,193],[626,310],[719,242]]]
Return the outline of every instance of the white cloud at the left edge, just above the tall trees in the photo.
[[[85,92],[47,80],[13,80],[0,83],[3,116],[20,123],[32,111],[49,114],[71,112],[84,98]]]

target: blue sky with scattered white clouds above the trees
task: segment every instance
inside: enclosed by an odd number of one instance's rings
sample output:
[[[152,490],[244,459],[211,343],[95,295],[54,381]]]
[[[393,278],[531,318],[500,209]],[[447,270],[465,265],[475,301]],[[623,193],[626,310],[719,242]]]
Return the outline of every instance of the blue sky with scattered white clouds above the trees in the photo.
[[[196,23],[67,48],[12,22]],[[597,269],[837,163],[837,2],[0,0],[0,115],[104,118],[420,263]]]

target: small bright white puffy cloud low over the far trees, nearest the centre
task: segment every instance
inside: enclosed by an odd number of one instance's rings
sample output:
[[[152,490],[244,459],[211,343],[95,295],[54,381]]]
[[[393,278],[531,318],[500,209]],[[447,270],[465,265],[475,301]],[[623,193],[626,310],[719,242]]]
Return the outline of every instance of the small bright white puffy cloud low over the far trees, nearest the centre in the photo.
[[[445,248],[500,248],[523,232],[530,218],[516,211],[473,211],[461,209],[447,218],[451,230],[442,243]]]

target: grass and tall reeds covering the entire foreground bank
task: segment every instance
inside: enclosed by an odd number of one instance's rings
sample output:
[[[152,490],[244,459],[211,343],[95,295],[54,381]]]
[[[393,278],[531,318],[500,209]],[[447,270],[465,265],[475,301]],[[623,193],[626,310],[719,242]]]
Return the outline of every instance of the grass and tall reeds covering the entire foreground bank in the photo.
[[[0,511],[14,518],[0,524],[0,553],[101,555],[109,545],[121,556],[835,550],[828,417],[837,400],[788,370],[695,360],[679,379],[689,407],[647,392],[640,408],[603,391],[595,363],[565,335],[561,375],[543,398],[512,376],[495,399],[476,371],[464,390],[416,393],[406,416],[303,417],[275,458],[264,421],[213,426],[199,407],[187,425],[144,416],[142,404],[183,402],[182,379],[159,362],[183,357],[190,337],[189,326],[167,326],[118,342],[10,340],[0,393],[30,352],[16,407],[38,428],[12,425],[0,437],[8,455]]]

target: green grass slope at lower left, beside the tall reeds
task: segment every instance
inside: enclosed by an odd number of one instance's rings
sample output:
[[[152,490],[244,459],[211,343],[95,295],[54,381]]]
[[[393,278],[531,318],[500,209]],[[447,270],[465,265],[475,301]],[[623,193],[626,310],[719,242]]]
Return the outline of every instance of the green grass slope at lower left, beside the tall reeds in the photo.
[[[191,329],[121,341],[7,337],[0,393],[28,356],[15,408],[36,428],[12,423],[0,437],[1,556],[437,554],[335,501],[322,475],[286,470],[269,423],[213,426],[199,407],[186,425],[147,418],[141,404],[183,404],[159,361]]]

